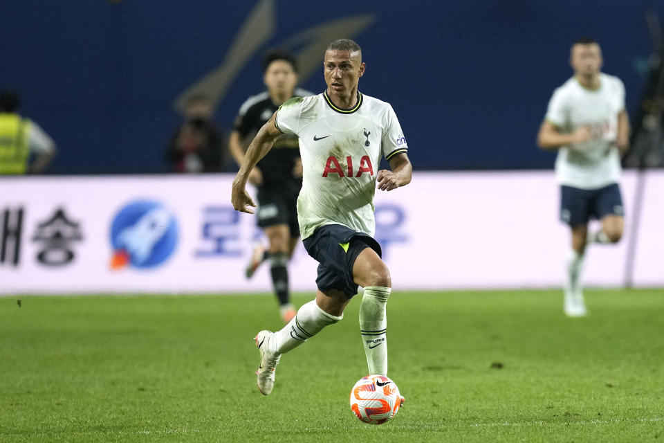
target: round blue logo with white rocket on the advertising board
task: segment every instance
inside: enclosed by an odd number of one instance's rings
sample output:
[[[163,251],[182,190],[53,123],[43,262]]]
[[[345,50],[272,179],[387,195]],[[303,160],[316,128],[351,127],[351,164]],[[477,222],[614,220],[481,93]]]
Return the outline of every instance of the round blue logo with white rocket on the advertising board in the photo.
[[[178,222],[158,201],[137,200],[113,218],[111,268],[151,268],[165,262],[178,243]]]

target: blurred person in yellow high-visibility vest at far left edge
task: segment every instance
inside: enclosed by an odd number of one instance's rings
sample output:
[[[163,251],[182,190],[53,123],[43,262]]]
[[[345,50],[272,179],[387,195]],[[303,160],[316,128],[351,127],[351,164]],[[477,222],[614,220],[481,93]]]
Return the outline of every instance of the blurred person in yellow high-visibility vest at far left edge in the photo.
[[[55,155],[55,143],[37,123],[18,114],[15,91],[0,91],[0,174],[39,174]]]

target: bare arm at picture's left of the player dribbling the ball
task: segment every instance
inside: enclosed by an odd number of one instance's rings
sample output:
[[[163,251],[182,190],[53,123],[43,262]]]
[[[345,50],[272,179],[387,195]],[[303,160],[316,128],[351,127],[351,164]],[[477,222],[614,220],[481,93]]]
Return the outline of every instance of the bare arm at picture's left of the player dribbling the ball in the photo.
[[[247,181],[249,179],[250,172],[255,168],[256,163],[262,159],[265,154],[267,154],[270,149],[272,149],[275,140],[278,136],[282,134],[277,125],[275,124],[275,118],[277,113],[268,120],[268,122],[261,127],[258,134],[251,141],[247,152],[244,154],[244,159],[240,165],[240,170],[237,172],[235,179],[233,180],[233,186],[230,195],[230,201],[233,204],[235,210],[239,210],[243,213],[253,214],[254,211],[248,208],[248,206],[256,207],[253,199],[250,197],[249,193],[246,190]]]

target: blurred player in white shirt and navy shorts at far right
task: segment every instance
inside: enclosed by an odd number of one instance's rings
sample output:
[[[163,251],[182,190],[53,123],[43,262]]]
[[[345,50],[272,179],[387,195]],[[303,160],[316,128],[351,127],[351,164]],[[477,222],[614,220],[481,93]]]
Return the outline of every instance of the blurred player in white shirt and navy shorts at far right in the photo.
[[[618,182],[620,155],[629,147],[629,119],[623,82],[600,72],[602,52],[597,42],[578,39],[570,63],[574,76],[554,91],[537,144],[558,151],[560,219],[571,228],[564,311],[568,316],[585,316],[581,270],[586,245],[616,243],[623,235]],[[602,226],[589,235],[591,218],[601,220]]]

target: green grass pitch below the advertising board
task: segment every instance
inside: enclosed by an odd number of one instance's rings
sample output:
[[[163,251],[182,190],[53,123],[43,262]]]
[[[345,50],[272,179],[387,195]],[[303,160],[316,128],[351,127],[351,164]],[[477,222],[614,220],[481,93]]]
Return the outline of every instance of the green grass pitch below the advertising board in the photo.
[[[302,304],[311,296],[296,296]],[[3,442],[646,442],[664,439],[664,293],[402,293],[388,305],[393,421],[349,408],[358,308],[257,389],[273,296],[0,298]]]

